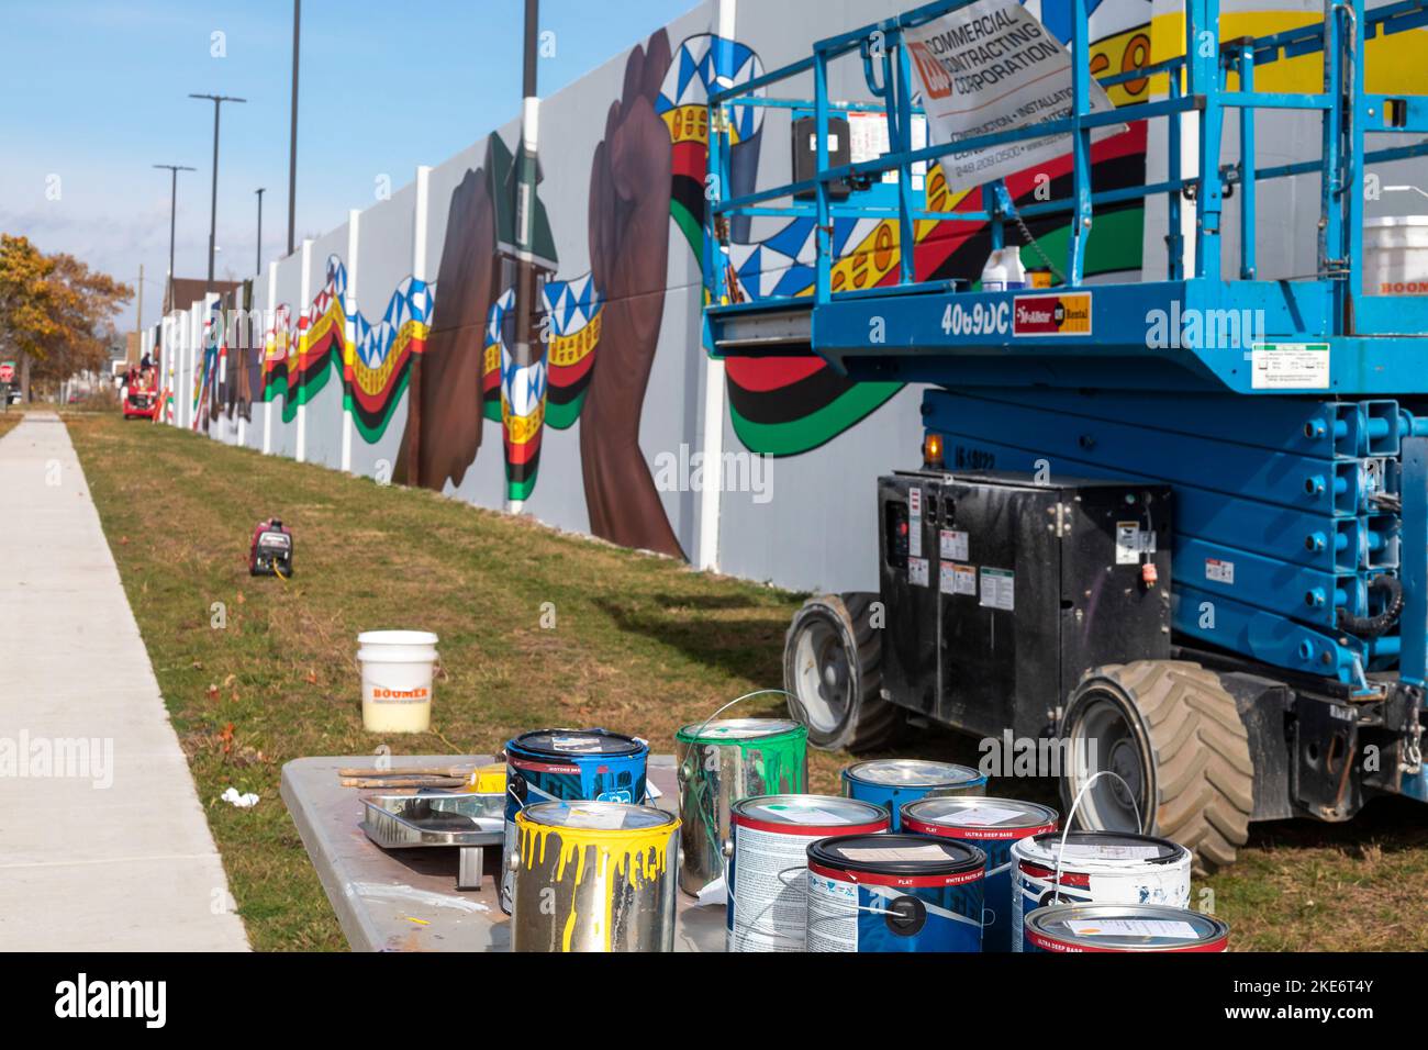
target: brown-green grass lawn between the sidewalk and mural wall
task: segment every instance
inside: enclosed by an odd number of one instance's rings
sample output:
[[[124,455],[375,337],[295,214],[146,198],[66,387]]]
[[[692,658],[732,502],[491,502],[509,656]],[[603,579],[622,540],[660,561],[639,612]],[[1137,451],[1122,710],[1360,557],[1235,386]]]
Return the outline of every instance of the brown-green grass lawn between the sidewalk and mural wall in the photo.
[[[411,754],[496,751],[571,724],[670,751],[680,724],[781,681],[798,596],[117,413],[66,419],[256,949],[346,946],[278,779],[290,759],[383,743],[361,729],[358,631],[441,636],[434,731],[390,741]],[[253,524],[273,514],[296,534],[290,583],[247,574]],[[977,760],[972,740],[940,730],[904,753]],[[815,751],[813,789],[835,791],[848,760]],[[221,803],[230,784],[263,801]],[[998,790],[1054,800],[1047,783]],[[1207,883],[1235,949],[1428,949],[1428,807],[1259,824],[1241,857]]]

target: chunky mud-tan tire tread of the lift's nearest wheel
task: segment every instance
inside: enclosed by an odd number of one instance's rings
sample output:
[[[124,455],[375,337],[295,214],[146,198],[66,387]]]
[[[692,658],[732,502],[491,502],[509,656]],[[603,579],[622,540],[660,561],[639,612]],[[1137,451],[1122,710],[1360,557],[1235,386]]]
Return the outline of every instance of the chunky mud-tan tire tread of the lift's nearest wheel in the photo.
[[[1148,771],[1138,800],[1140,830],[1191,850],[1197,874],[1232,864],[1250,837],[1254,760],[1235,700],[1220,676],[1185,660],[1095,667],[1081,679],[1061,719],[1058,736],[1072,749],[1078,719],[1094,699],[1122,709]],[[1062,774],[1061,801],[1068,813],[1072,790]],[[1078,813],[1077,824],[1090,827],[1091,821]]]

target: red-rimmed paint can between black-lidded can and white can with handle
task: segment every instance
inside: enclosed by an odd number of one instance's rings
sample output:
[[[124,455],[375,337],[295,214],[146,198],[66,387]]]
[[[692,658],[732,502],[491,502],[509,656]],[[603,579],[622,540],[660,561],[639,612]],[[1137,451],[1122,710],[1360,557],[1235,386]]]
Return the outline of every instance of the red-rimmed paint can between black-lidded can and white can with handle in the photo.
[[[922,799],[902,807],[902,830],[978,847],[987,854],[982,951],[1014,951],[1011,847],[1057,830],[1050,806],[1017,799]]]

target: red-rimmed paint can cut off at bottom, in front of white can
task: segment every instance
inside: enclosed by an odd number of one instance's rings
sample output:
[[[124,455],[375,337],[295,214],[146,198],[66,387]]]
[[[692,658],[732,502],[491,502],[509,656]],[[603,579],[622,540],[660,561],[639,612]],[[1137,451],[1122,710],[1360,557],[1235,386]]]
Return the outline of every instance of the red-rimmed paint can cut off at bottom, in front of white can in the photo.
[[[1227,951],[1230,926],[1162,904],[1058,904],[1027,916],[1022,951]]]

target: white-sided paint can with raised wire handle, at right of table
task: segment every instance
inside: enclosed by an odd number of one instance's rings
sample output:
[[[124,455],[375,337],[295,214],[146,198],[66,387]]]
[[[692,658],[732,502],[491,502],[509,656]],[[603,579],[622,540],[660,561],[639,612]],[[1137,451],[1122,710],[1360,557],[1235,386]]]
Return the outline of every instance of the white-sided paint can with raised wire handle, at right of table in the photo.
[[[1012,950],[1022,920],[1052,904],[1190,907],[1190,850],[1168,839],[1124,831],[1071,831],[1021,839],[1011,847]],[[1061,874],[1057,877],[1060,859]]]

